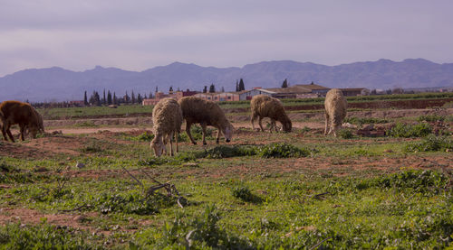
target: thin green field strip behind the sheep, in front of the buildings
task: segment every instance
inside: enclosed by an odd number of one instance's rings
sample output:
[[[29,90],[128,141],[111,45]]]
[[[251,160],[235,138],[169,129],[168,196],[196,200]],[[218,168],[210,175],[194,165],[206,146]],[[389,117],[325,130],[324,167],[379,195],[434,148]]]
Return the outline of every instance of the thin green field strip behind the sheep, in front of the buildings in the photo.
[[[452,98],[453,93],[424,93],[424,94],[404,94],[404,95],[381,95],[381,96],[363,96],[347,97],[348,103],[370,103],[395,100],[423,100],[423,99],[445,99]],[[324,98],[300,98],[300,99],[283,99],[284,106],[301,106],[301,105],[322,105]],[[224,108],[248,108],[250,101],[219,102]],[[124,105],[118,108],[108,106],[90,106],[90,107],[69,107],[69,108],[41,108],[38,109],[44,119],[72,119],[90,116],[132,116],[152,113],[152,106],[141,105]]]

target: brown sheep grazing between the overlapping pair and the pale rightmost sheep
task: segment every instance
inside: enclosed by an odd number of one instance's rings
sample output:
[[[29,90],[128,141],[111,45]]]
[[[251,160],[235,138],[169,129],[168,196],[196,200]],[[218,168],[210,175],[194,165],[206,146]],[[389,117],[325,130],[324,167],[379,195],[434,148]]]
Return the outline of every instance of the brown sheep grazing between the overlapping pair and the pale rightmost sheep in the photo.
[[[271,118],[271,133],[273,127],[275,128],[275,132],[277,132],[275,121],[279,121],[282,124],[284,132],[291,132],[293,125],[290,118],[286,116],[286,112],[284,112],[284,106],[279,99],[266,95],[258,95],[252,98],[252,101],[250,101],[250,106],[252,109],[251,123],[254,130],[254,122],[256,118],[259,117],[258,124],[261,130],[264,132],[265,129],[263,128],[261,121],[263,120],[263,118],[269,117]]]

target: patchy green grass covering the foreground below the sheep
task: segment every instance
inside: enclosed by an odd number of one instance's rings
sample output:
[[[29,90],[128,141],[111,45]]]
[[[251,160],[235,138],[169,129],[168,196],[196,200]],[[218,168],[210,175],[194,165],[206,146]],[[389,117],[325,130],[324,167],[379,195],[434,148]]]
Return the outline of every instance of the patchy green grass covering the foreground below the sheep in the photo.
[[[3,156],[2,214],[34,209],[42,219],[30,223],[12,217],[0,226],[0,249],[452,245],[453,190],[442,167],[451,153],[406,152],[407,144],[425,139],[346,140],[308,129],[303,137],[242,132],[249,134],[237,135],[233,145],[180,144],[175,157],[153,157],[150,134],[120,133],[67,135],[82,143],[75,155]],[[14,145],[26,150],[24,144]],[[76,162],[86,167],[77,169]],[[422,169],[408,169],[419,162]],[[48,171],[34,171],[36,166]],[[184,208],[165,189],[149,195],[149,187],[158,184],[149,176],[173,184]],[[79,226],[86,229],[56,227],[45,215],[67,216],[72,223],[83,215]]]

